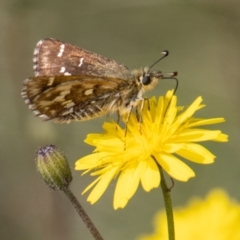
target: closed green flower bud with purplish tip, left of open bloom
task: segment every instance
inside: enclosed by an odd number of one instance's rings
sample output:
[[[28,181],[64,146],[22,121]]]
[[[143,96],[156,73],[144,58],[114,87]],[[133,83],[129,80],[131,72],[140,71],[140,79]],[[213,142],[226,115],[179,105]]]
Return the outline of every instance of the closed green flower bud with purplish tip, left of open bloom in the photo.
[[[53,190],[66,189],[72,181],[67,158],[54,145],[37,151],[36,166],[43,180]]]

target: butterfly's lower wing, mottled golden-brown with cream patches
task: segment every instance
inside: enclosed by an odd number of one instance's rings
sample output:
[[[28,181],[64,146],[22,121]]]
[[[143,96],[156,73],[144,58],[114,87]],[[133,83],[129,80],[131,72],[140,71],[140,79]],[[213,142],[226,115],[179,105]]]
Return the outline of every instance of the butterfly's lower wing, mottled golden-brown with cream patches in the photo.
[[[137,95],[134,81],[96,76],[38,76],[24,81],[22,97],[36,116],[83,121],[113,112]]]

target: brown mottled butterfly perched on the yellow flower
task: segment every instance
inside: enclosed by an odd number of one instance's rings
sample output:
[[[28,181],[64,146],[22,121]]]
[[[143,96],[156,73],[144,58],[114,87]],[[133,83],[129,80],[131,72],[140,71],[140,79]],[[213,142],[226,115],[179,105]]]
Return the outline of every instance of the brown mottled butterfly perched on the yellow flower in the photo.
[[[168,55],[162,53],[162,58]],[[167,78],[160,71],[151,72],[153,65],[130,71],[114,60],[51,38],[37,43],[33,63],[35,77],[24,81],[22,97],[36,116],[57,122],[84,121],[115,111],[130,114],[143,103],[145,91]]]

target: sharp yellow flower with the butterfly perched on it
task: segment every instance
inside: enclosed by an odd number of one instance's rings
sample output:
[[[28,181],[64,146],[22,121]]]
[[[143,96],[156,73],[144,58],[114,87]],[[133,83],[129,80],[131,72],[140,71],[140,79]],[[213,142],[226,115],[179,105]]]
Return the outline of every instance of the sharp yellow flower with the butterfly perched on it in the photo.
[[[92,176],[98,176],[83,192],[94,187],[87,199],[90,203],[95,203],[118,177],[113,206],[114,209],[125,207],[140,182],[147,192],[159,186],[160,166],[180,181],[194,177],[193,170],[177,156],[200,164],[214,161],[215,156],[196,142],[226,142],[227,135],[219,130],[197,127],[220,123],[224,119],[193,118],[192,115],[203,107],[201,97],[182,113],[176,102],[173,91],[166,97],[159,97],[158,101],[153,97],[145,101],[142,123],[131,113],[127,132],[115,122],[105,122],[105,133],[87,136],[85,142],[95,146],[95,151],[79,159],[75,169],[85,170],[85,173],[92,171]]]

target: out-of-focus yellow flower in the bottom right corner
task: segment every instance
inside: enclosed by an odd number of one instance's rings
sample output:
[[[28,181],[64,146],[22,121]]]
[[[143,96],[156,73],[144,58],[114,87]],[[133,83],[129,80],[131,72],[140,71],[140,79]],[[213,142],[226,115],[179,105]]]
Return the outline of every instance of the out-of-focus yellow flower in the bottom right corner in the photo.
[[[210,192],[205,200],[193,198],[187,207],[174,211],[178,240],[239,240],[240,204],[221,189]],[[138,240],[167,240],[164,211],[156,215],[155,232]]]

